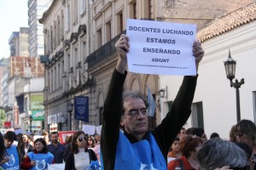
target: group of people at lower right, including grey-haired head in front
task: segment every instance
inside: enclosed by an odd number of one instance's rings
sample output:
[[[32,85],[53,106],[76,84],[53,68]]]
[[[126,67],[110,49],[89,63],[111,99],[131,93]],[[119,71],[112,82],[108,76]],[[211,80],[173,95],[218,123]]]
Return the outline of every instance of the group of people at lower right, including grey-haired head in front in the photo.
[[[230,128],[230,139],[221,139],[218,133],[212,133],[210,139],[207,139],[200,127],[183,128],[184,135],[173,141],[167,155],[167,169],[256,169],[256,161],[253,160],[256,154],[253,149],[255,127],[253,122],[241,120]],[[247,128],[251,130],[247,131]],[[245,131],[247,133],[241,133]]]

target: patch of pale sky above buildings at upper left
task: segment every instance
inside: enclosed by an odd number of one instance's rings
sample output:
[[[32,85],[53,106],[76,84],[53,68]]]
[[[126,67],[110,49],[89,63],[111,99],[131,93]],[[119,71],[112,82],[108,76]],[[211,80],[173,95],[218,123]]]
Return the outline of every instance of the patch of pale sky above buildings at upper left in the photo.
[[[0,59],[9,57],[9,37],[28,27],[28,0],[0,0]]]

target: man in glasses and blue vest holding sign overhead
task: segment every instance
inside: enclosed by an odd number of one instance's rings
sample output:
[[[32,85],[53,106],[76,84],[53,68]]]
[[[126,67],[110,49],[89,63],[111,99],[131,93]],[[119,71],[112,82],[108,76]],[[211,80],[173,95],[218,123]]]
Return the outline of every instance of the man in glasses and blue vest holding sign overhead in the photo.
[[[148,131],[148,108],[144,98],[133,92],[123,93],[129,37],[121,35],[115,48],[119,56],[103,110],[102,169],[167,169],[166,156],[172,140],[191,113],[197,77],[183,78],[172,110],[160,125]],[[193,54],[197,68],[204,54],[200,42],[194,42]]]

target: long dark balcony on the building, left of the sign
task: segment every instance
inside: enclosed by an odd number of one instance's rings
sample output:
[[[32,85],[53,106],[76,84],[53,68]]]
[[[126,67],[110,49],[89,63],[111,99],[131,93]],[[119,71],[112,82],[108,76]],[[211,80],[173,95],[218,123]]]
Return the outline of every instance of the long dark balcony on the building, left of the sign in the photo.
[[[125,34],[125,32],[126,31],[123,31],[121,34]],[[116,50],[114,48],[114,43],[119,40],[119,37],[121,34],[111,39],[109,42],[104,44],[101,48],[96,49],[95,52],[93,52],[87,57],[86,60],[88,62],[88,69],[93,68],[97,64],[101,63],[103,59],[107,59],[108,56],[115,53]]]

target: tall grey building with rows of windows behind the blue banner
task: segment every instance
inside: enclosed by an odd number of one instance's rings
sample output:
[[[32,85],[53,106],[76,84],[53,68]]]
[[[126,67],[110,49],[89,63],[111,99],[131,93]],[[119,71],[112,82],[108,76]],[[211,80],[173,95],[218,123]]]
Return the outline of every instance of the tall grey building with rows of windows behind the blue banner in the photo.
[[[82,126],[82,122],[68,115],[67,104],[73,103],[74,96],[90,96],[90,91],[94,89],[94,80],[88,75],[87,65],[84,64],[92,50],[90,10],[90,1],[54,0],[39,20],[44,24],[47,44],[44,50],[47,55],[44,105],[47,117],[45,127],[49,131],[55,127],[68,130]],[[70,118],[72,124],[69,123]]]

